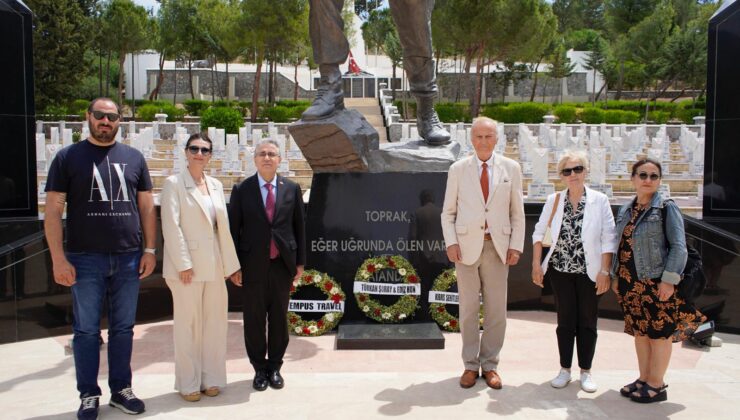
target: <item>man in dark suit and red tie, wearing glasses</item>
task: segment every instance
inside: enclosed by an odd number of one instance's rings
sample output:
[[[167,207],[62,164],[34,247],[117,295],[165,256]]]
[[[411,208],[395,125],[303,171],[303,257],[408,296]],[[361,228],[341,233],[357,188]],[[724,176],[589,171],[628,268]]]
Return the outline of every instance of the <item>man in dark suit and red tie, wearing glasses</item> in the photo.
[[[264,391],[268,384],[275,389],[285,384],[280,367],[288,347],[290,286],[303,273],[306,235],[301,188],[277,176],[278,144],[258,144],[254,161],[257,173],[231,192],[229,224],[242,267],[242,275],[231,281],[243,291],[244,343],[255,370],[252,387]]]

